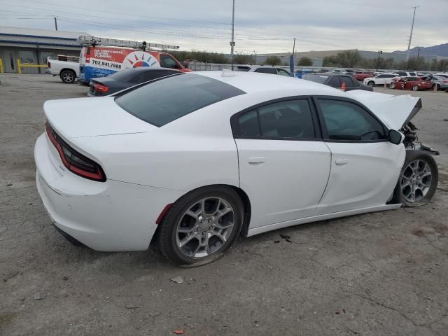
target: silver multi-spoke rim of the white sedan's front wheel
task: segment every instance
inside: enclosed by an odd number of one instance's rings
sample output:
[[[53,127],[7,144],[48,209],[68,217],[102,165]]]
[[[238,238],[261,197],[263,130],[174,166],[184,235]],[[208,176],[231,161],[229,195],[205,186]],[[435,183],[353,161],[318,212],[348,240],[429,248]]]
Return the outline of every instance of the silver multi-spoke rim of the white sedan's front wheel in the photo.
[[[414,160],[403,170],[400,187],[407,202],[421,202],[428,193],[433,174],[430,165],[423,160]]]

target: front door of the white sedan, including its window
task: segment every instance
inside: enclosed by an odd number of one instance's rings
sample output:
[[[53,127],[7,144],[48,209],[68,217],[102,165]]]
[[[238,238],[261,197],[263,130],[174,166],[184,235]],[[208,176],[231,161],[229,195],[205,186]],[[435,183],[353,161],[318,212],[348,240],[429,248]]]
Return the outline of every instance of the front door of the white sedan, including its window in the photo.
[[[404,146],[388,142],[384,125],[362,106],[346,99],[317,100],[331,172],[316,214],[386,204],[405,160]]]

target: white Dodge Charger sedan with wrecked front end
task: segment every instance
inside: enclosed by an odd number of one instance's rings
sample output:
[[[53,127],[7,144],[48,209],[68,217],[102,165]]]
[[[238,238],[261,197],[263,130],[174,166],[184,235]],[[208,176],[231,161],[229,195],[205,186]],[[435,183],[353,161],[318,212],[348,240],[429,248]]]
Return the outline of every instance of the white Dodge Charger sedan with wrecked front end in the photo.
[[[45,102],[36,184],[55,228],[99,251],[152,240],[202,265],[244,236],[428,202],[419,98],[262,73],[180,73]]]

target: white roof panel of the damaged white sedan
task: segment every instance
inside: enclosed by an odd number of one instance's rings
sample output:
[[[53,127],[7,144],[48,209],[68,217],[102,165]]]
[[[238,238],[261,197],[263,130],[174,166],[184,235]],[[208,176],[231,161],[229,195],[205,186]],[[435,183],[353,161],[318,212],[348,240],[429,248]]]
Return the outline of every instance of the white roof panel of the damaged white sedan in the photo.
[[[228,73],[224,71],[195,71],[194,73],[228,83],[246,93],[297,90],[297,95],[329,94],[335,96],[340,95],[338,92],[341,92],[334,87],[310,80],[287,76],[272,76],[268,73],[245,71],[229,71]],[[225,74],[224,76],[222,76],[223,73]],[[188,74],[186,73],[187,76]]]

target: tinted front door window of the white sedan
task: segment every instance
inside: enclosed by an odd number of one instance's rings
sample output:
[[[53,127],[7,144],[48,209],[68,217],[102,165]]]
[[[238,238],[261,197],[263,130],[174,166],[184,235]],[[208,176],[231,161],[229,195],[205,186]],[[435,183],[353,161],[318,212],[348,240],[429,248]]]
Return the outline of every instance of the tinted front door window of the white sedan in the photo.
[[[382,125],[360,106],[319,99],[330,140],[374,141],[386,139]]]

